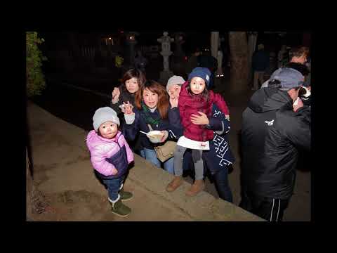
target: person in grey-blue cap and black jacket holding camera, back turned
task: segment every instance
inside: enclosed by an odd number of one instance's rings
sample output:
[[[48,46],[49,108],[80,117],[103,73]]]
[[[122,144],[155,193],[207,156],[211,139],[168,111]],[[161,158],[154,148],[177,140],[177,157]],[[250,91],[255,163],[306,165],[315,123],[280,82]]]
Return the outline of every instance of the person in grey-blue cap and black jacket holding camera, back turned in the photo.
[[[242,202],[267,221],[282,221],[300,150],[310,151],[311,107],[298,93],[304,77],[292,68],[259,89],[242,114]]]

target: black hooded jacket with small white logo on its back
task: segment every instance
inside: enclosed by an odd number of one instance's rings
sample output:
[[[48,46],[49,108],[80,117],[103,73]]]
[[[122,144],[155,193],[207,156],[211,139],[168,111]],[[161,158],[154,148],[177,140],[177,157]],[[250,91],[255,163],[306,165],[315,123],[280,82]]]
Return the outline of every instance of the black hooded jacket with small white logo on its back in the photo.
[[[260,89],[242,114],[242,186],[257,196],[289,199],[298,152],[310,150],[311,109],[292,103],[286,91]]]

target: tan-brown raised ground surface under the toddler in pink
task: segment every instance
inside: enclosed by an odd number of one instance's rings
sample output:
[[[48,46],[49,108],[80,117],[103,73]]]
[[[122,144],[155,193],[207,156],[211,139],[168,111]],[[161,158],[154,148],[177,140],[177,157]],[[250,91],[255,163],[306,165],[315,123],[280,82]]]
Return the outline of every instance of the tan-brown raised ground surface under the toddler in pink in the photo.
[[[87,131],[27,104],[32,142],[34,181],[51,200],[50,214],[29,217],[39,221],[263,221],[244,209],[206,192],[187,197],[190,183],[175,192],[166,185],[173,176],[135,155],[125,189],[134,194],[126,218],[110,212],[107,191],[93,174],[86,148]],[[61,212],[62,211],[62,212]]]

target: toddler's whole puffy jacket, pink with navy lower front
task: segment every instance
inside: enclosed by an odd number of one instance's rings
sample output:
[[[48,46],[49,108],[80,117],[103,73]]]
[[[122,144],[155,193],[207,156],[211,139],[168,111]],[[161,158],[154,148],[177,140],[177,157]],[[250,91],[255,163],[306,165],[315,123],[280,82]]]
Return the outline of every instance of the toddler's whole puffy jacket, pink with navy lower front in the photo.
[[[91,154],[91,164],[101,179],[123,176],[128,164],[133,161],[133,153],[120,131],[114,138],[107,139],[92,130],[86,137],[86,145]]]

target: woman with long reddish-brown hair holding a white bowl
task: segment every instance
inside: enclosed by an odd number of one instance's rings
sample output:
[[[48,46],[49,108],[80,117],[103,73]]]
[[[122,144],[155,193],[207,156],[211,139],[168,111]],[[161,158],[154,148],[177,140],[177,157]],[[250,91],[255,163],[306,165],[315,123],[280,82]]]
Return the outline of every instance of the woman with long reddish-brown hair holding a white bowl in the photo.
[[[160,143],[152,143],[147,135],[140,134],[142,148],[140,155],[157,167],[161,167],[154,147],[163,145],[169,138],[182,134],[182,129],[170,124],[170,122],[176,122],[179,115],[177,111],[168,112],[169,96],[164,86],[153,80],[140,86],[136,93],[135,104],[136,106],[133,107],[131,103],[124,103],[126,124],[124,124],[123,133],[127,139],[133,140],[139,131],[148,132],[152,129],[161,131],[163,137]],[[173,157],[164,162],[164,169],[173,174]]]

